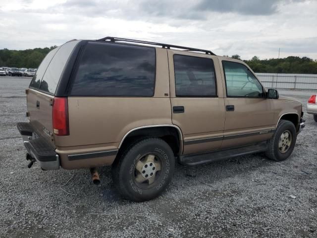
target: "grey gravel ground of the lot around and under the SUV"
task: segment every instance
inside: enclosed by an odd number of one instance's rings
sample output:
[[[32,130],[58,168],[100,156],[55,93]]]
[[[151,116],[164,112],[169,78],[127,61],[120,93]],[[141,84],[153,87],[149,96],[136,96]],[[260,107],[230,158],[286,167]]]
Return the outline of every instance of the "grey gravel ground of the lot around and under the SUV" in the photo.
[[[305,114],[306,127],[284,162],[256,154],[177,165],[159,198],[134,203],[117,195],[109,168],[101,169],[96,186],[88,170],[26,167],[15,123],[26,120],[29,82],[0,78],[0,237],[317,237],[317,123],[311,115]],[[310,94],[280,91],[305,107]]]

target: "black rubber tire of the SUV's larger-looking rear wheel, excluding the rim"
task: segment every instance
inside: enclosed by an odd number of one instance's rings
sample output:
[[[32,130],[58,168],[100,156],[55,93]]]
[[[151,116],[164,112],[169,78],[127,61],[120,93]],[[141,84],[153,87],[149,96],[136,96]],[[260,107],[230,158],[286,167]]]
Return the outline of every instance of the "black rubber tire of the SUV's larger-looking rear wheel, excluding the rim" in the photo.
[[[135,181],[135,166],[140,158],[155,154],[161,160],[162,169],[158,180],[151,187],[138,186]],[[165,190],[173,177],[175,157],[170,146],[159,138],[145,138],[127,147],[112,166],[112,178],[118,192],[126,199],[142,202],[151,200]]]

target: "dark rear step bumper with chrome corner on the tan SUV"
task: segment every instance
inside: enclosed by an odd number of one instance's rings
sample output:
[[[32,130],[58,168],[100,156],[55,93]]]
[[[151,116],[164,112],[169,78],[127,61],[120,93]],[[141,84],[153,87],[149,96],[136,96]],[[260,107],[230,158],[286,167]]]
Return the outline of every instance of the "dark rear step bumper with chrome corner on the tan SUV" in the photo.
[[[16,125],[23,137],[26,150],[36,159],[40,167],[44,170],[58,170],[60,162],[55,148],[44,138],[39,137],[29,122],[18,122]]]

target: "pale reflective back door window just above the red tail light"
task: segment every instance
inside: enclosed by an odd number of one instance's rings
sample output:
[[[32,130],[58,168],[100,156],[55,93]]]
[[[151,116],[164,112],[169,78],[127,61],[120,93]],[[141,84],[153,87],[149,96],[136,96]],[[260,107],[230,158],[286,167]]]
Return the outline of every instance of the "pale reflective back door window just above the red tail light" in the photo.
[[[54,94],[66,62],[79,41],[62,45],[51,60],[41,81],[40,90]]]

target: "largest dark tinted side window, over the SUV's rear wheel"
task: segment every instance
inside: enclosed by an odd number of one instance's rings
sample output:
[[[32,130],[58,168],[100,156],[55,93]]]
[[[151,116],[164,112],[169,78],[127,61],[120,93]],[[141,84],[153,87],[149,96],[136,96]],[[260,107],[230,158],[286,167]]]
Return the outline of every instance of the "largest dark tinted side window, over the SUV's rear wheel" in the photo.
[[[154,48],[89,42],[71,95],[152,97],[155,62]]]

